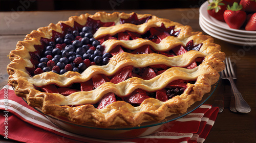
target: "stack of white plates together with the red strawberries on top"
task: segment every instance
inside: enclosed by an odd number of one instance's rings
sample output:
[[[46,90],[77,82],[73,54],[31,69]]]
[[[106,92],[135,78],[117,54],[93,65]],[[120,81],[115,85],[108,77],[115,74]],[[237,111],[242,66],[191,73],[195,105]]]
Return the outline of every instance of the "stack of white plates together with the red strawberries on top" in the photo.
[[[209,0],[200,7],[199,24],[212,37],[256,45],[256,0]]]

